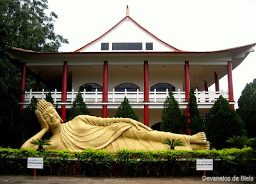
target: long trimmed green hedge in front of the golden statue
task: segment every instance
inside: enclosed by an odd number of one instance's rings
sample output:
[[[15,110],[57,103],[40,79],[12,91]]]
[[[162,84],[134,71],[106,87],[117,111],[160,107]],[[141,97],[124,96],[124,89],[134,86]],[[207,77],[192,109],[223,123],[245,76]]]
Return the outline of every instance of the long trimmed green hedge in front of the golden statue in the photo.
[[[249,148],[209,150],[143,152],[120,150],[110,153],[106,150],[87,149],[83,152],[66,150],[35,150],[0,148],[0,174],[32,174],[27,169],[27,157],[44,157],[44,169],[37,169],[42,175],[82,176],[201,176],[196,171],[196,159],[213,159],[214,171],[209,176],[248,175],[243,156]],[[255,173],[252,173],[253,175]]]

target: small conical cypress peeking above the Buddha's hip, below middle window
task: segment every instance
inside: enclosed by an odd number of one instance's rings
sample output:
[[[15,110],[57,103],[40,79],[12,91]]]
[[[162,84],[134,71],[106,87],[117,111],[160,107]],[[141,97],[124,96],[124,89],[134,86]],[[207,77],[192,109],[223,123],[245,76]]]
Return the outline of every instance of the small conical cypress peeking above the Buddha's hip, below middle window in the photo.
[[[132,118],[136,121],[140,121],[138,115],[132,110],[132,106],[127,97],[124,97],[124,101],[122,101],[121,105],[118,107],[115,118]]]

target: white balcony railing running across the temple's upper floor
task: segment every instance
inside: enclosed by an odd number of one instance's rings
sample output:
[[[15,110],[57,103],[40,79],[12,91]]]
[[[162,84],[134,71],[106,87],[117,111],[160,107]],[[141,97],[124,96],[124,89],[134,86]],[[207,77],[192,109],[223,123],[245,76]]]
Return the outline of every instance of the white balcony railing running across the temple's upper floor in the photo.
[[[76,98],[77,93],[78,92],[75,92],[74,89],[71,92],[67,92],[67,103],[72,103]],[[33,92],[32,90],[25,92],[25,103],[30,103],[33,96],[38,100],[45,99],[46,94],[48,94],[48,92],[44,90],[42,90],[42,92]],[[55,90],[54,92],[51,92],[51,94],[54,103],[61,103],[61,92]],[[86,90],[84,90],[81,92],[81,94],[85,103],[102,103],[102,92],[99,92],[97,89],[95,92],[86,92]],[[169,92],[167,89],[166,92],[157,92],[155,89],[153,92],[149,92],[149,101],[152,104],[163,104],[168,94]],[[197,103],[214,103],[214,101],[217,101],[220,95],[228,100],[228,92],[224,92],[223,90],[221,92],[211,92],[210,90],[208,92],[198,90],[195,91]],[[143,92],[140,92],[138,89],[136,92],[127,92],[126,89],[124,92],[116,92],[115,89],[113,89],[111,92],[108,92],[109,103],[121,103],[124,101],[124,97],[127,97],[130,103],[135,104],[141,104],[144,100]],[[178,101],[178,103],[185,103],[185,92],[181,92],[180,90],[173,92],[173,97]]]

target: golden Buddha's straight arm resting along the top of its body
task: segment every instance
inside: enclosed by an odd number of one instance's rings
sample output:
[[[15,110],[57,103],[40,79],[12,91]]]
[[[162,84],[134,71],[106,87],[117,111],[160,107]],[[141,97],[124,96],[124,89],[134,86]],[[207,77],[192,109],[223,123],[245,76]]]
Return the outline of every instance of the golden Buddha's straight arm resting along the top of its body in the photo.
[[[90,125],[96,126],[108,126],[115,123],[127,123],[134,125],[138,130],[141,128],[147,129],[147,131],[152,131],[150,127],[142,124],[141,122],[137,122],[136,120],[132,120],[131,118],[100,118],[86,115],[86,123]]]

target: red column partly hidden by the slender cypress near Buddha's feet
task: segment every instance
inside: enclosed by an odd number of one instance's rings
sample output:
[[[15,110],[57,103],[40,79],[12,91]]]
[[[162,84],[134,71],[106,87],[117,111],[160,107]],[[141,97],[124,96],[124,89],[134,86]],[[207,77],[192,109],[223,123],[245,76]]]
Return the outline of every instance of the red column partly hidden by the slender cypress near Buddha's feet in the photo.
[[[184,66],[184,69],[185,69],[185,100],[186,102],[189,101],[189,92],[190,92],[190,76],[189,76],[189,61],[186,60],[185,61],[185,66]],[[189,106],[187,105],[187,108],[186,108],[186,115],[189,117],[189,111],[188,111],[188,108]],[[190,119],[187,118],[187,124],[190,123]],[[191,131],[190,129],[187,129],[187,132],[189,135],[191,135]]]

